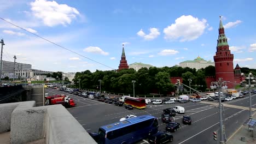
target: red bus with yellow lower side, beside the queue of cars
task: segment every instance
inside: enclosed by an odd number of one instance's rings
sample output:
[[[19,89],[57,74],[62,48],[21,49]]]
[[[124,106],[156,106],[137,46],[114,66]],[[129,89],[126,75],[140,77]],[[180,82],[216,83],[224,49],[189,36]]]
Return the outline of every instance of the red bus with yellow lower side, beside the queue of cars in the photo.
[[[137,109],[144,109],[146,107],[145,99],[132,98],[132,97],[126,97],[124,99],[124,104],[132,105],[133,107],[135,107]]]

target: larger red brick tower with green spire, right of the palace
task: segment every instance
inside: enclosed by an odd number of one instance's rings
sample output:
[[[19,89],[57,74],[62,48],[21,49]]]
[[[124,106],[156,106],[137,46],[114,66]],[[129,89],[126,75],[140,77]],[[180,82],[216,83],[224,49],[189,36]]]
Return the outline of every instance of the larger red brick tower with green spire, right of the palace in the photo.
[[[214,56],[216,80],[222,78],[224,81],[235,82],[233,59],[234,55],[230,53],[228,39],[225,36],[222,19],[219,21],[219,38],[217,40],[217,52]],[[234,84],[228,82],[228,88],[234,88]]]

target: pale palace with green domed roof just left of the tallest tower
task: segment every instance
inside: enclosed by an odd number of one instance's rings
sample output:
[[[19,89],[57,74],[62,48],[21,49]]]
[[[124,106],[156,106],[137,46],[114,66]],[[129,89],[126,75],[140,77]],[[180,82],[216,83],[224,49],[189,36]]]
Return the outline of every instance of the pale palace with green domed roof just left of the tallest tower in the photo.
[[[191,69],[195,68],[196,70],[199,70],[201,68],[206,68],[210,65],[215,66],[214,62],[206,61],[205,59],[203,59],[199,56],[196,59],[194,59],[193,61],[188,60],[188,61],[179,63],[179,67],[182,67],[182,68],[189,67]]]

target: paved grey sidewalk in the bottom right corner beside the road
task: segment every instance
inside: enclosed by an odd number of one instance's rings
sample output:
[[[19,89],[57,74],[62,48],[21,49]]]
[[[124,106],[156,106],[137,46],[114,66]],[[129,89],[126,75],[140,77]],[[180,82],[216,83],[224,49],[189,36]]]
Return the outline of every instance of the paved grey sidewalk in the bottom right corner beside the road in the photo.
[[[253,114],[253,119],[256,119],[256,112]],[[235,131],[233,135],[231,135],[226,142],[226,144],[251,144],[256,143],[256,140],[253,140],[253,131],[248,130],[247,125],[241,125],[240,128]],[[241,141],[241,137],[245,137],[245,142]]]

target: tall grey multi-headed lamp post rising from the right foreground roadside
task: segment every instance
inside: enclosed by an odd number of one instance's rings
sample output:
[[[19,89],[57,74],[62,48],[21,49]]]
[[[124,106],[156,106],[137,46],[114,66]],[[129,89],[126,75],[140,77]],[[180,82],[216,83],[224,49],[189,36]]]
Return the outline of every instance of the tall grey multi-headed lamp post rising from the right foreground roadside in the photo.
[[[223,129],[223,118],[222,118],[222,112],[224,109],[224,106],[222,105],[222,93],[220,93],[220,90],[222,89],[222,86],[226,87],[226,81],[221,81],[221,79],[219,79],[219,81],[217,82],[211,82],[211,88],[214,88],[214,86],[217,86],[218,88],[218,95],[219,95],[219,127],[220,127],[220,140],[219,143],[225,143],[224,140],[224,129]]]

